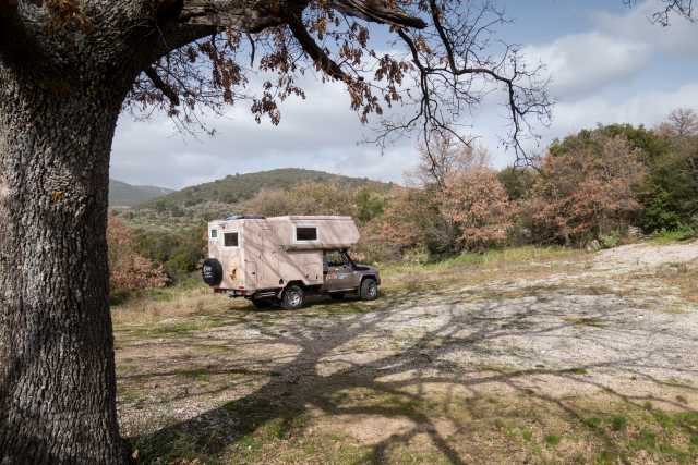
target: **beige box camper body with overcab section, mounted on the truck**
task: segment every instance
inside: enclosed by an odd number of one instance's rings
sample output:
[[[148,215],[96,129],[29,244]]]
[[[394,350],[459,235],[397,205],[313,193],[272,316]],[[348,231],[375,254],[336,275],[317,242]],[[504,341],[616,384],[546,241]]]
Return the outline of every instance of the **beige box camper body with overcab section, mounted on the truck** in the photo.
[[[288,283],[322,286],[323,250],[359,241],[351,217],[239,218],[208,223],[208,256],[220,261],[218,291],[238,295],[278,290]]]

